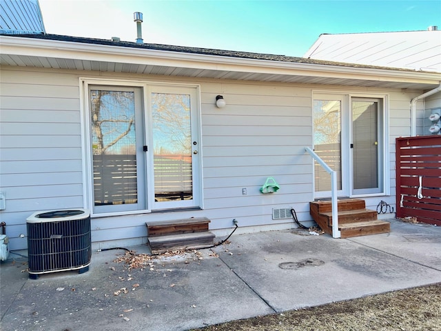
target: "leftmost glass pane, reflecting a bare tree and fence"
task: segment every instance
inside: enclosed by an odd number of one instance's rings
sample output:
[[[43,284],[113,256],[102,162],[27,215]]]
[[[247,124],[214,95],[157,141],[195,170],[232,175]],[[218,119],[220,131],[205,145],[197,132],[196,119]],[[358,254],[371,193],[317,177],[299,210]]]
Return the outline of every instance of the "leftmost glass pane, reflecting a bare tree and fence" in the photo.
[[[134,92],[91,90],[94,205],[137,203]]]

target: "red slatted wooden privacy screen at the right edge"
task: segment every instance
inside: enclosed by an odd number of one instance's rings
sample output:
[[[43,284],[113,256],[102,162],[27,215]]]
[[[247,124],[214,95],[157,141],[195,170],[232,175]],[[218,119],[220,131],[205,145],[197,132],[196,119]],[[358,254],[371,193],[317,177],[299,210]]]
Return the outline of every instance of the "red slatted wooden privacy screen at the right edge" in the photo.
[[[396,139],[397,217],[441,225],[441,136]]]

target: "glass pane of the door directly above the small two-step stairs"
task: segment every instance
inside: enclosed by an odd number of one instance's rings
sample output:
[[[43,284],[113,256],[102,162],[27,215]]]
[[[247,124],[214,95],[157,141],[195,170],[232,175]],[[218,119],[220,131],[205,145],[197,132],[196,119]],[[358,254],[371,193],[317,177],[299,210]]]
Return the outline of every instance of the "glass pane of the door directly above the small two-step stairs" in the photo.
[[[152,93],[155,201],[193,199],[189,94]]]

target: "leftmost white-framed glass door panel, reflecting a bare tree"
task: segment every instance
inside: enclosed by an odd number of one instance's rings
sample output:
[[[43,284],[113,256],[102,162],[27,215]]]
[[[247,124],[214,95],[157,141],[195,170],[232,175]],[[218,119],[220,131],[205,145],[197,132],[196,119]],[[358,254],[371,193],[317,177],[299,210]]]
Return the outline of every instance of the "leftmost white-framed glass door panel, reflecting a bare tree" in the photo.
[[[90,88],[93,210],[145,209],[141,89]]]

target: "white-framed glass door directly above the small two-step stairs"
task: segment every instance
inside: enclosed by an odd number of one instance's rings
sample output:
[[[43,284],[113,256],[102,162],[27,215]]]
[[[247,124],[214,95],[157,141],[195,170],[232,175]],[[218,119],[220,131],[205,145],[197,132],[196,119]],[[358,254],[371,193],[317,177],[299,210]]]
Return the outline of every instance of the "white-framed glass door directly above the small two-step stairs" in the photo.
[[[152,88],[150,108],[153,143],[154,208],[199,206],[195,190],[199,164],[199,142],[192,132],[198,118],[194,89]]]

